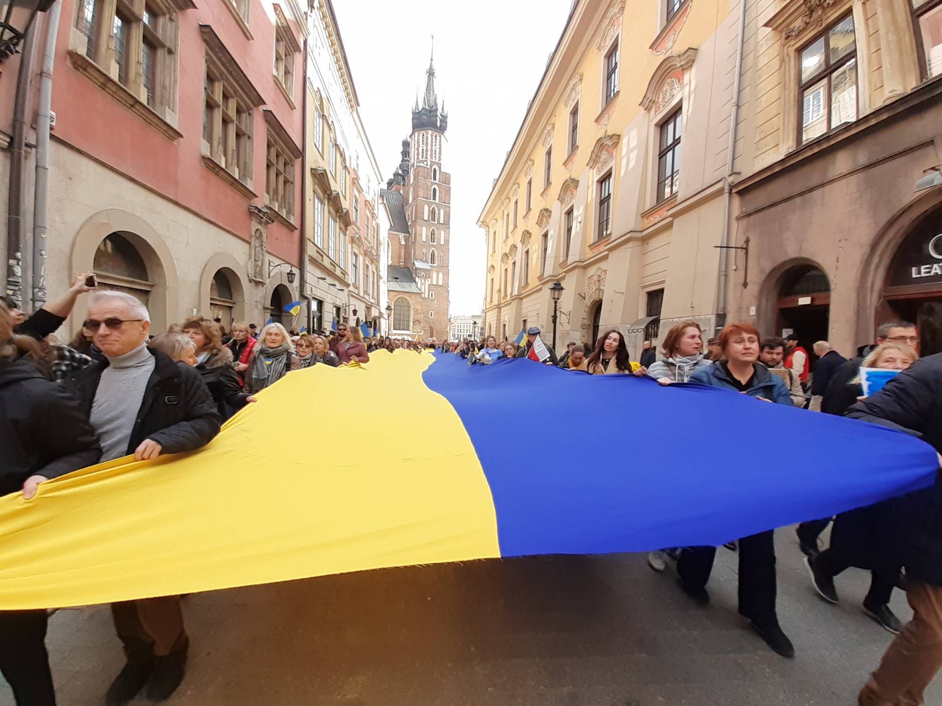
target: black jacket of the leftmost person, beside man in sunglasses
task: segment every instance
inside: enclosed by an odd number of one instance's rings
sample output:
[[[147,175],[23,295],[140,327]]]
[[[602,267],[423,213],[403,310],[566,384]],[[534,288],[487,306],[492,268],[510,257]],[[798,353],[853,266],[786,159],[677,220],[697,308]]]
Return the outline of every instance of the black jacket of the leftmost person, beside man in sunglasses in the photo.
[[[31,362],[0,362],[0,495],[30,475],[57,478],[98,463],[102,449],[75,399]]]

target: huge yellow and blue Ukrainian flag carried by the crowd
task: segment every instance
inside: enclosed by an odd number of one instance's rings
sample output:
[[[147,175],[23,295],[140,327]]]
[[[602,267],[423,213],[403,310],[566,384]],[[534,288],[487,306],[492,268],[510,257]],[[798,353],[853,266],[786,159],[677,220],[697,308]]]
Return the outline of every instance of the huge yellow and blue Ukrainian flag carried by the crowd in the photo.
[[[0,498],[0,609],[719,544],[926,487],[937,465],[879,426],[527,360],[380,351],[258,396],[198,452]]]

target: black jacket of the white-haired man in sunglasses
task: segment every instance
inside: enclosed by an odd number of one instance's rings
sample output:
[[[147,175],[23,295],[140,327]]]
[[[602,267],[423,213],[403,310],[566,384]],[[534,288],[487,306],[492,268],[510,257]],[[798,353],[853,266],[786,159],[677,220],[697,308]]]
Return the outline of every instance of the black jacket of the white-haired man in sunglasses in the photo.
[[[166,353],[150,352],[156,359],[154,372],[144,388],[126,453],[133,454],[145,439],[159,443],[164,454],[193,451],[213,441],[219,434],[219,411],[203,377],[195,368],[177,365]],[[68,380],[86,419],[108,364],[105,359],[89,365]]]

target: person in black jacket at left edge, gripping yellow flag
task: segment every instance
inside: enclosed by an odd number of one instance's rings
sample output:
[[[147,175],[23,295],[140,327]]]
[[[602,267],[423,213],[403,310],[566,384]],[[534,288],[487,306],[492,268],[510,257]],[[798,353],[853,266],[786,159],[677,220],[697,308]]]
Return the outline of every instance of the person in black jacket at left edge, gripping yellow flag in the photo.
[[[0,495],[22,490],[29,500],[41,483],[102,455],[78,402],[48,376],[39,344],[13,335],[13,317],[0,303]],[[0,611],[0,672],[21,706],[56,704],[47,622],[45,610]]]

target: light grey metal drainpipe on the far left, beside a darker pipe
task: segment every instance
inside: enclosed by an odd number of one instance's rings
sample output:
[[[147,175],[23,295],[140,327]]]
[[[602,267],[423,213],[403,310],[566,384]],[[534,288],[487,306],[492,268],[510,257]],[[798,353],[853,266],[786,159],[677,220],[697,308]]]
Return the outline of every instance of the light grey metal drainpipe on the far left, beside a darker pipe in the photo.
[[[33,197],[33,311],[46,303],[46,204],[49,201],[49,130],[52,120],[53,68],[62,3],[49,9],[46,45],[42,51],[40,107],[36,116],[36,189]]]

